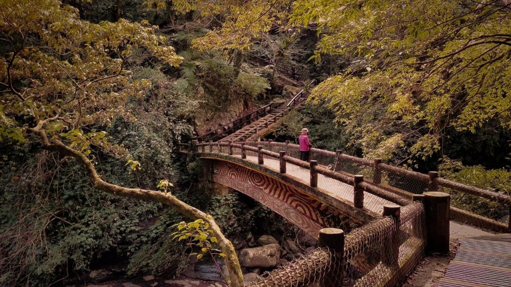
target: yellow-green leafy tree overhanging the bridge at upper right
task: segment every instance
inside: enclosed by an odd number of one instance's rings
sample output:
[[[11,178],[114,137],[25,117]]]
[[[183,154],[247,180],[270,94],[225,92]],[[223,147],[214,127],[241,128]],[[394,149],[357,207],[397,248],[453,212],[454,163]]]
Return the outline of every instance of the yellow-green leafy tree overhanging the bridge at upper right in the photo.
[[[312,59],[348,55],[312,92],[368,155],[440,150],[448,128],[511,127],[511,2],[298,0],[291,22],[317,28]],[[406,159],[406,156],[405,156]]]

